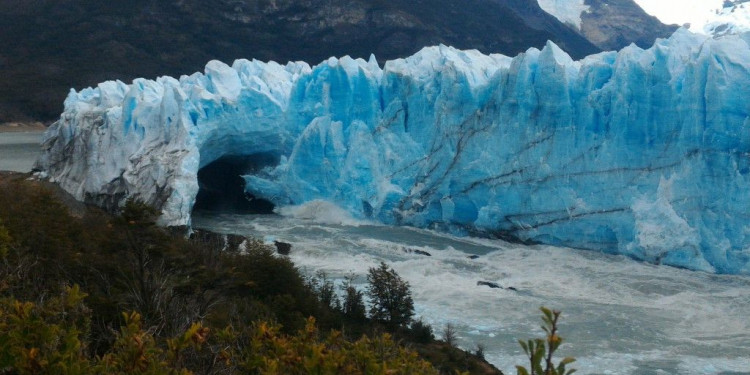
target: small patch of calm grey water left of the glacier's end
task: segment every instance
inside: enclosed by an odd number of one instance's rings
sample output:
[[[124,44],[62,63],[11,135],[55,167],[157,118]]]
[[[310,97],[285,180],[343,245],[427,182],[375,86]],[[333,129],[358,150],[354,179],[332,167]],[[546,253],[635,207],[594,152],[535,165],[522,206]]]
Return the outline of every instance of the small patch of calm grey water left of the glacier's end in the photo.
[[[41,140],[42,132],[0,133],[0,171],[31,171]]]

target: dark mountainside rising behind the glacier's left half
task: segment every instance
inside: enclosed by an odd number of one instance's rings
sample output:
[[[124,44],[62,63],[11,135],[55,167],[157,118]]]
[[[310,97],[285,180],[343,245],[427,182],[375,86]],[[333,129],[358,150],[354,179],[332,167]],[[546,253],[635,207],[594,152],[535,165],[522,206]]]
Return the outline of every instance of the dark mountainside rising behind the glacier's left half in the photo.
[[[211,59],[385,61],[439,43],[515,55],[548,39],[599,51],[528,0],[0,0],[0,23],[0,123],[56,119],[71,87]]]

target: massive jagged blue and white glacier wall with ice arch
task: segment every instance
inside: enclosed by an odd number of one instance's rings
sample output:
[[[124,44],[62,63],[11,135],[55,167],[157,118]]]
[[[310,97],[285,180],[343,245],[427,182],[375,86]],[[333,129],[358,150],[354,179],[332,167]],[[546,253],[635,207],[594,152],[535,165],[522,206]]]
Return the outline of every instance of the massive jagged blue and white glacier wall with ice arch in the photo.
[[[358,218],[750,274],[750,48],[679,30],[573,61],[430,47],[380,68],[212,61],[71,91],[37,165],[78,199],[189,225],[197,172]]]

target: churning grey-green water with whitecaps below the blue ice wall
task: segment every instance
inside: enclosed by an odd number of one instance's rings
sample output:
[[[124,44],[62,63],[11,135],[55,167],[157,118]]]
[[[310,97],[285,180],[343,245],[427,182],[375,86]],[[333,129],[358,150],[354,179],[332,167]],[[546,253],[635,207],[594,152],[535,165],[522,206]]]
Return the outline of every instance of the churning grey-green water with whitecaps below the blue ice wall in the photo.
[[[453,323],[461,347],[481,343],[506,374],[526,363],[517,340],[542,335],[542,305],[563,311],[560,354],[575,356],[579,373],[750,374],[750,277],[379,226],[319,203],[282,214],[197,212],[193,225],[289,242],[305,273],[354,274],[361,289],[367,269],[386,261],[409,281],[417,316],[436,334]]]

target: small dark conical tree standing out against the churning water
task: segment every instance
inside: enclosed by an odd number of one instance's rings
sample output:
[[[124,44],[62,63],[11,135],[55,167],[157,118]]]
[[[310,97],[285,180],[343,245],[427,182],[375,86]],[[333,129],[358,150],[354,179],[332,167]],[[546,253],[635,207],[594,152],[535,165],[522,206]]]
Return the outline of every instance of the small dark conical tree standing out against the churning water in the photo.
[[[414,301],[409,283],[404,281],[385,262],[370,268],[367,274],[367,295],[370,297],[370,317],[396,327],[405,326],[414,316]]]

